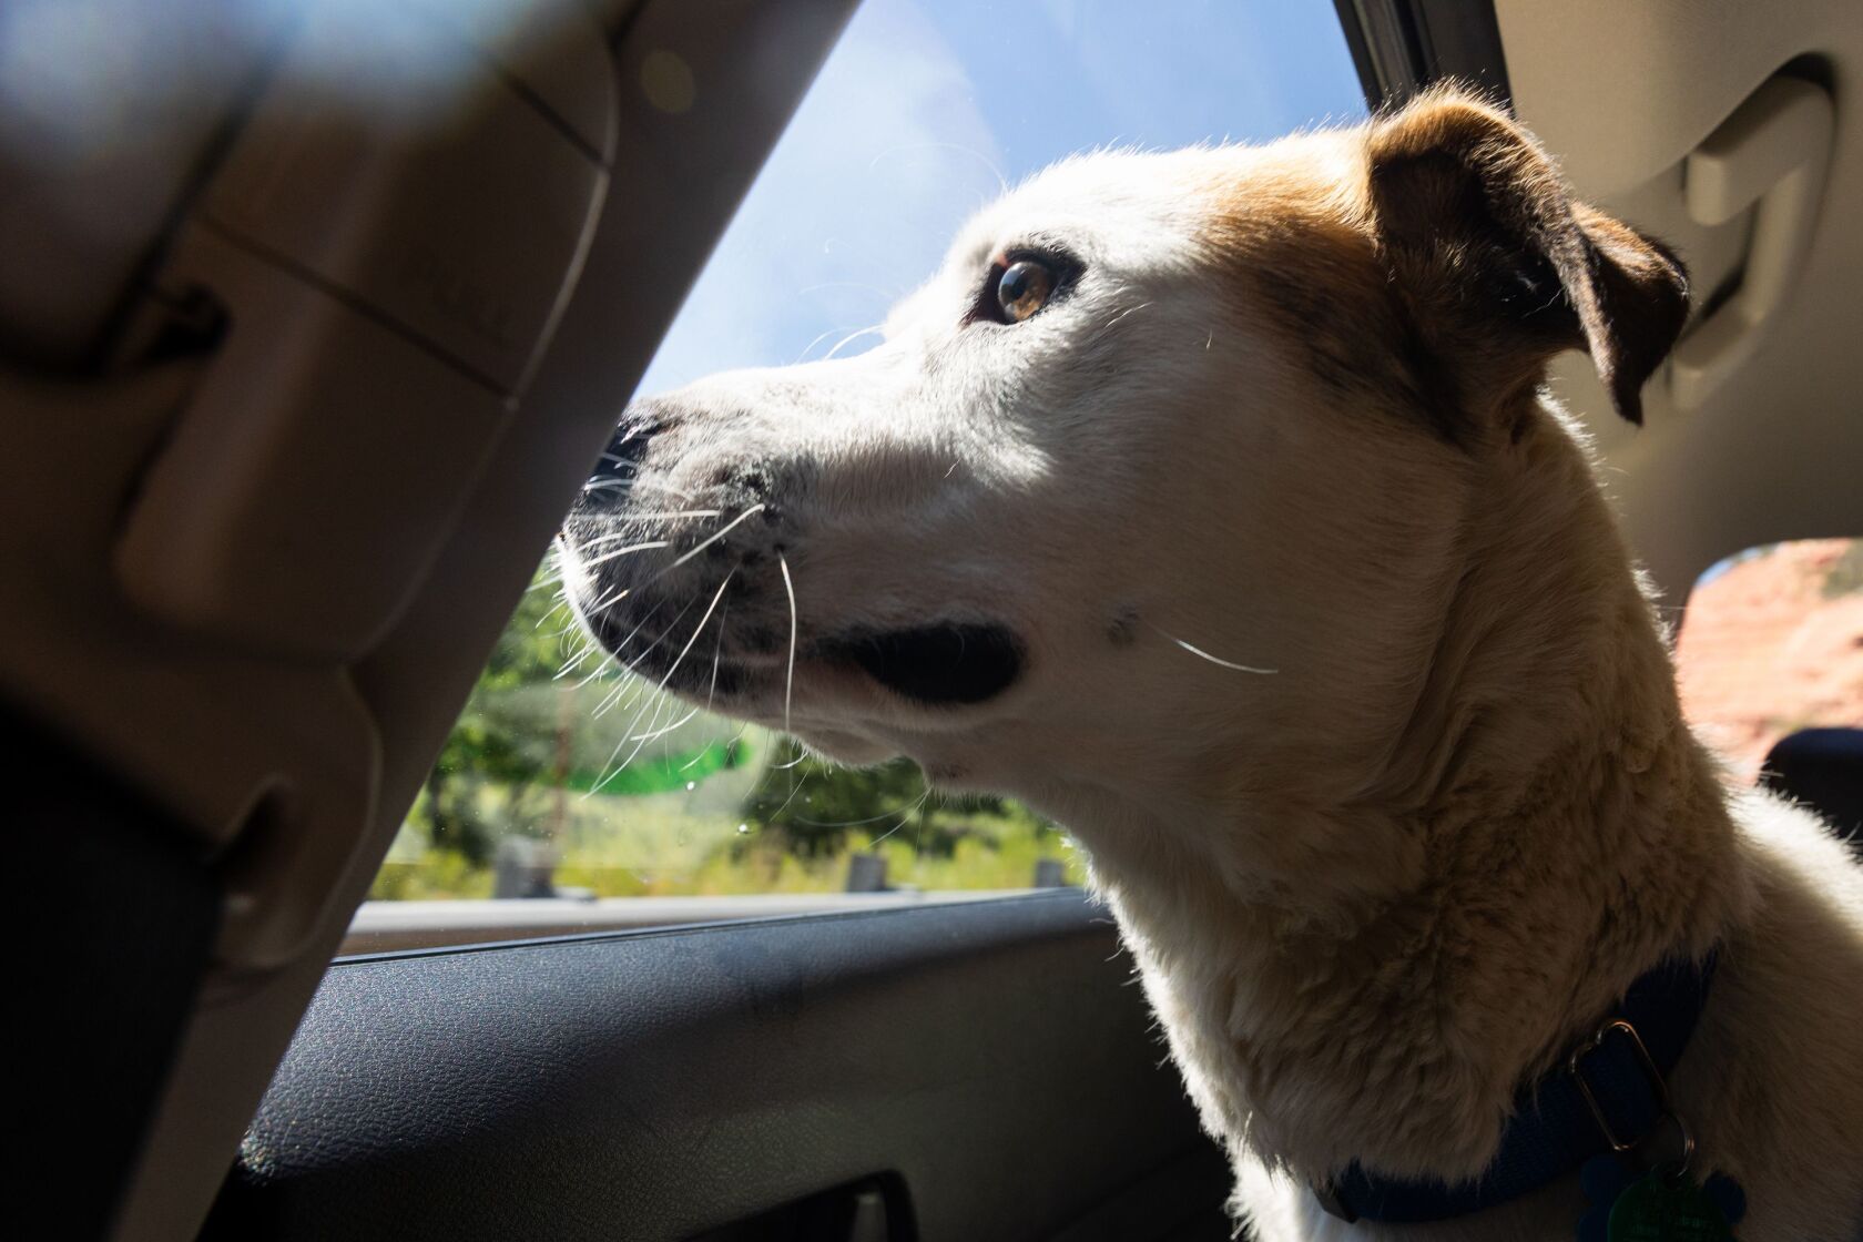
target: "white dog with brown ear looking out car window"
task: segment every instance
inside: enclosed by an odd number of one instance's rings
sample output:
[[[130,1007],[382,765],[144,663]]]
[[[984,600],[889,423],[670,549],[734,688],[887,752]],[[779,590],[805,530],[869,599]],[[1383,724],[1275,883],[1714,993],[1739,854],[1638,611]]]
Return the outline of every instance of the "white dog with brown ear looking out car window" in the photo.
[[[1664,963],[1656,1171],[1859,1238],[1863,871],[1690,732],[1543,391],[1584,348],[1641,421],[1686,313],[1462,89],[1077,156],[874,350],[632,404],[566,592],[695,704],[1064,823],[1259,1238],[1574,1236],[1574,1168],[1408,1225],[1338,1188],[1479,1186]]]

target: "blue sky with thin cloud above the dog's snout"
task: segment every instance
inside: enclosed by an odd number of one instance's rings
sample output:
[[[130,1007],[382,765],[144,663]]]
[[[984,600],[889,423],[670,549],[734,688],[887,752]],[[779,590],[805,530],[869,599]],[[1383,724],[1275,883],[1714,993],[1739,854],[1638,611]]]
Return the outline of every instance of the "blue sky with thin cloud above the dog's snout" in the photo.
[[[1364,112],[1332,0],[864,0],[641,391],[825,356],[1004,182],[1071,151]]]

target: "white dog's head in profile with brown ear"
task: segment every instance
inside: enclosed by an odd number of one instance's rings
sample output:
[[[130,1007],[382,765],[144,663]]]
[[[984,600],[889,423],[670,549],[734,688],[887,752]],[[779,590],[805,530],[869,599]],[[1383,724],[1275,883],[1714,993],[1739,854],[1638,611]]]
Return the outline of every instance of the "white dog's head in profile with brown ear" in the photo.
[[[570,600],[671,691],[933,780],[1185,791],[1380,745],[1470,492],[1680,268],[1442,91],[1269,147],[1067,160],[850,359],[635,402]],[[1187,745],[1187,739],[1198,739]]]

